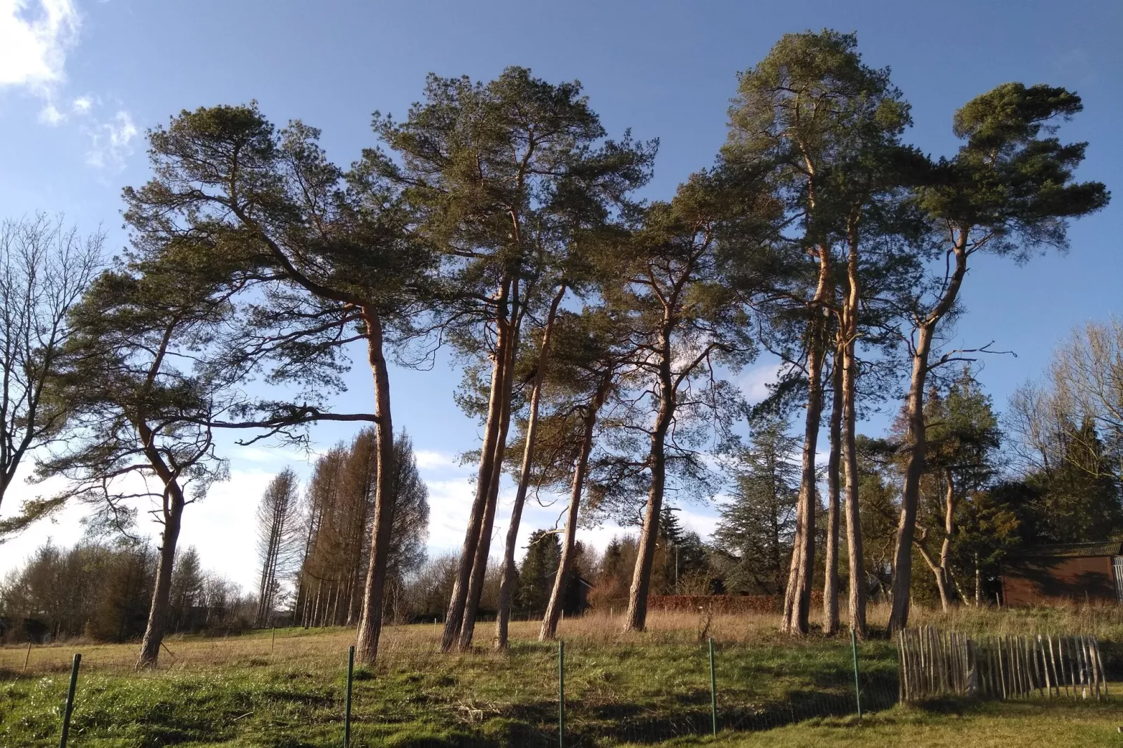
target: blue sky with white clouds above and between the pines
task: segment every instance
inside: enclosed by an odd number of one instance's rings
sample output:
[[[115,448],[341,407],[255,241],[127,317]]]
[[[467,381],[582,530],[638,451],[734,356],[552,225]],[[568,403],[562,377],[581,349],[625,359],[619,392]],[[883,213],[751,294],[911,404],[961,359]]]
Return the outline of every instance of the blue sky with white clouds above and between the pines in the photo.
[[[907,138],[951,154],[951,116],[1005,81],[1077,90],[1085,111],[1062,130],[1088,140],[1081,179],[1115,188],[1117,199],[1077,224],[1071,252],[1026,266],[980,258],[962,293],[968,314],[958,340],[1014,350],[980,375],[995,402],[1046,364],[1068,329],[1123,311],[1123,3],[1020,2],[294,2],[287,0],[141,2],[0,0],[0,216],[63,211],[86,230],[98,225],[119,248],[120,190],[147,179],[144,130],[184,108],[250,99],[276,122],[300,118],[322,128],[340,163],[373,143],[371,113],[403,115],[426,73],[490,79],[518,64],[553,81],[578,79],[612,134],[631,127],[660,138],[652,198],[669,195],[709,165],[724,138],[736,73],[755,64],[786,31],[856,30],[868,63],[891,65],[912,102]],[[767,381],[761,364],[742,374],[749,390]],[[358,366],[339,409],[368,410],[369,376]],[[455,407],[458,374],[392,381],[395,423],[421,454],[433,499],[431,544],[458,545],[471,495],[469,468],[455,456],[477,445],[478,429]],[[870,425],[878,428],[880,420]],[[319,446],[346,427],[316,431]],[[231,481],[190,510],[183,542],[203,560],[247,583],[254,576],[254,504],[268,476],[302,455],[228,450]],[[34,495],[44,487],[24,487]],[[16,498],[4,502],[12,512]],[[553,526],[560,507],[536,509],[528,526]],[[0,546],[0,573],[48,536],[73,541],[77,511]],[[691,507],[687,524],[712,527],[712,508]],[[601,542],[611,528],[587,535]],[[496,537],[505,532],[503,510]]]

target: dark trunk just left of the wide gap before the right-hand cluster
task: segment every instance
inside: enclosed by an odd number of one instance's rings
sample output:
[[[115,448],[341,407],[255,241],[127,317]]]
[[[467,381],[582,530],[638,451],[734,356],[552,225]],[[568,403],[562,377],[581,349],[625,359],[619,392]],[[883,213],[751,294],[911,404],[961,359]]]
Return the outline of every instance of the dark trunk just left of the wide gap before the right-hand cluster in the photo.
[[[659,512],[663,511],[663,492],[667,481],[666,439],[670,421],[675,417],[675,389],[670,373],[670,334],[665,329],[661,339],[663,362],[659,366],[659,385],[663,400],[651,430],[651,447],[648,464],[651,469],[651,487],[647,494],[647,511],[643,529],[640,531],[636,567],[632,571],[631,589],[628,592],[628,613],[624,615],[624,631],[642,631],[647,626],[647,594],[651,585],[651,565],[655,563],[655,545],[659,539]]]

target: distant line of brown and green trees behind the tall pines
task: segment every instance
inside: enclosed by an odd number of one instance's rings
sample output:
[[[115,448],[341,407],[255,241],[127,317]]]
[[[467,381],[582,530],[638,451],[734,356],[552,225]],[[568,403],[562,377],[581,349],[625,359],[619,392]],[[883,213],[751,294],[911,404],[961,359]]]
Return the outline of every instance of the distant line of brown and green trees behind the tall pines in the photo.
[[[943,605],[1001,602],[999,564],[1020,548],[1107,540],[1123,533],[1123,443],[1104,439],[1093,419],[1072,421],[1070,376],[1089,339],[1123,327],[1092,325],[1059,346],[1048,375],[1019,389],[998,413],[982,385],[964,370],[933,386],[925,407],[930,457],[921,481],[917,547],[928,574],[915,576],[915,600]],[[1123,348],[1121,348],[1123,349]],[[858,438],[862,537],[873,601],[886,601],[900,512],[902,462],[895,440]],[[678,510],[665,508],[652,566],[652,595],[755,595],[778,611],[792,554],[798,494],[800,440],[789,425],[763,417],[728,463],[730,495],[720,504],[713,537],[684,529]],[[360,583],[369,563],[373,435],[320,456],[305,487],[291,469],[277,474],[258,507],[261,584],[246,592],[202,569],[193,548],[176,558],[170,630],[225,635],[267,626],[354,626]],[[384,615],[392,623],[444,620],[456,581],[457,556],[429,557],[428,491],[408,436],[395,440],[399,474]],[[949,503],[953,532],[947,529]],[[818,511],[828,508],[820,501]],[[825,547],[828,523],[819,523]],[[930,535],[931,533],[931,535]],[[950,537],[947,548],[942,547]],[[559,533],[533,531],[523,548],[512,600],[517,619],[544,614],[560,559]],[[638,555],[634,533],[614,537],[603,551],[578,542],[563,595],[567,615],[588,609],[622,612]],[[83,636],[127,641],[144,632],[156,557],[147,542],[86,540],[70,549],[40,547],[0,584],[4,639]],[[825,560],[816,556],[822,578]],[[846,581],[844,556],[840,575]],[[481,615],[494,618],[500,564],[485,576]],[[816,591],[822,590],[818,584]],[[816,595],[818,596],[818,595]],[[674,605],[668,601],[668,606]]]

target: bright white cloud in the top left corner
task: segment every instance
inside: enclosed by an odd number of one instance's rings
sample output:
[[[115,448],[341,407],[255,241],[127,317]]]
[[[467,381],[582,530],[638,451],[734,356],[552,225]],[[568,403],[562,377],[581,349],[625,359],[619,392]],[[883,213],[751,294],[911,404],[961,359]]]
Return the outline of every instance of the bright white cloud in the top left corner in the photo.
[[[0,0],[0,85],[49,95],[66,79],[80,26],[71,0]]]

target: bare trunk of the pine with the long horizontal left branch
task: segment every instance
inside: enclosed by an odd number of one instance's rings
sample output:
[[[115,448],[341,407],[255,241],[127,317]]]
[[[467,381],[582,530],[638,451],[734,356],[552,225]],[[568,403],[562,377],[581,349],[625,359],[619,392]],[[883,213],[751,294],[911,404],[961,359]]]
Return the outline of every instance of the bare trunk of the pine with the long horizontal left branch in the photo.
[[[374,483],[374,523],[371,528],[371,558],[363,587],[363,613],[358,621],[355,654],[360,663],[373,664],[378,656],[382,633],[382,601],[390,558],[390,533],[394,523],[394,426],[390,413],[390,372],[383,354],[382,320],[363,310],[366,325],[367,357],[374,372],[374,445],[378,455]]]

